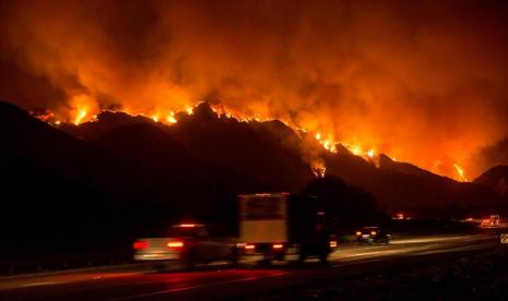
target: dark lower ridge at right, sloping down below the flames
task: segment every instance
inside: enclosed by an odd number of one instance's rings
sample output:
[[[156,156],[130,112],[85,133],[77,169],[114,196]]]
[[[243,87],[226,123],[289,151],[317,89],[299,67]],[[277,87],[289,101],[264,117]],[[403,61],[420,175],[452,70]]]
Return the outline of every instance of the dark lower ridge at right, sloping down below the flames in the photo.
[[[382,155],[379,167],[354,157],[328,155],[328,172],[365,188],[388,212],[405,212],[416,217],[461,217],[507,210],[506,200],[480,184],[457,182]]]

